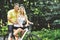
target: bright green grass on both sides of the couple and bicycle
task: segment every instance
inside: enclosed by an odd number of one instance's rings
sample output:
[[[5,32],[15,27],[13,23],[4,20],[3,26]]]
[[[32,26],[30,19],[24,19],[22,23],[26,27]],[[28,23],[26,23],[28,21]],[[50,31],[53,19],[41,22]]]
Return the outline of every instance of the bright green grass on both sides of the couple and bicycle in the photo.
[[[6,35],[8,28],[6,26],[2,27],[2,32],[0,31],[0,35]],[[60,29],[41,29],[40,31],[33,31],[32,34],[37,35],[42,40],[55,40],[55,38],[60,38]],[[60,40],[60,39],[59,39]]]

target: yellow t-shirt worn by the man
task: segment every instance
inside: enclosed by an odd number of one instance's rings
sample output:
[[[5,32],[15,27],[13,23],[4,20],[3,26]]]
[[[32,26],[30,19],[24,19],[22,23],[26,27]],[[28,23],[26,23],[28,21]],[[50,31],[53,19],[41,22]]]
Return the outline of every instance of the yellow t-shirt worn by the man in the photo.
[[[10,17],[12,21],[16,22],[16,19],[17,19],[16,16],[17,16],[18,13],[19,13],[19,12],[15,12],[14,9],[12,9],[12,10],[8,11],[7,17],[8,17],[8,18]],[[8,25],[13,25],[13,23],[11,23],[11,22],[8,20]]]

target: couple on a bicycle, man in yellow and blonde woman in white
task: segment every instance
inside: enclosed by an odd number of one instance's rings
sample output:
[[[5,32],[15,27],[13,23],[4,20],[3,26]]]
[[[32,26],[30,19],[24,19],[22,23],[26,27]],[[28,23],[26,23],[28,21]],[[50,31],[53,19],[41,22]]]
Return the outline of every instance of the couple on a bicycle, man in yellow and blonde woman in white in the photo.
[[[21,35],[24,33],[24,22],[26,22],[25,26],[29,24],[33,24],[27,18],[24,6],[20,6],[18,3],[14,4],[14,9],[8,11],[7,15],[8,19],[8,30],[9,36],[8,40],[12,40],[12,36],[14,35],[15,39],[18,40],[18,33],[20,32]]]

